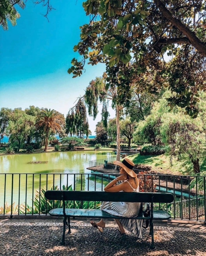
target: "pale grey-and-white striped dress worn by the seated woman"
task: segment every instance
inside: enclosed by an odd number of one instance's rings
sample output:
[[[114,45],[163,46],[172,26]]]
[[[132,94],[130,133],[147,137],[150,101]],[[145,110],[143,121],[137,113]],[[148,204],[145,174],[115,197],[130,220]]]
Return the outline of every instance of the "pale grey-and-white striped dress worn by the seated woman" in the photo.
[[[127,181],[128,182],[128,181]],[[129,183],[129,182],[128,182]],[[130,183],[129,183],[130,184]],[[130,185],[131,186],[131,185]],[[139,186],[132,192],[139,192]],[[131,192],[131,193],[132,193]],[[141,203],[128,203],[128,202],[103,202],[101,210],[108,212],[112,215],[119,217],[135,217],[138,216],[141,210]],[[115,219],[114,216],[114,219]],[[119,219],[123,227],[132,232],[138,238],[142,238],[142,224],[143,220],[124,220]]]

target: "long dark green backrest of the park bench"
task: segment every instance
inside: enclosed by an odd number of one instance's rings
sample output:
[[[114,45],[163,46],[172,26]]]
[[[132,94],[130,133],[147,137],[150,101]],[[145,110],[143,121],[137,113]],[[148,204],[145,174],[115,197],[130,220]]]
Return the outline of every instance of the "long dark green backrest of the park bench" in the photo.
[[[48,200],[170,203],[171,193],[47,190]]]

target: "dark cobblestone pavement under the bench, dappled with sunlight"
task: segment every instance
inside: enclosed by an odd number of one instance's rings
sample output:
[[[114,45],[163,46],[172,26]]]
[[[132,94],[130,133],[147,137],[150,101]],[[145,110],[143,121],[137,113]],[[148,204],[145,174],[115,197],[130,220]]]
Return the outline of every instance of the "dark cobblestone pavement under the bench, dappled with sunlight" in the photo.
[[[71,221],[72,234],[66,234],[66,245],[62,246],[60,221],[0,219],[0,255],[206,255],[204,226],[185,228],[185,224],[177,223],[155,226],[155,249],[151,250],[149,229],[143,230],[143,239],[137,239],[129,232],[121,235],[114,222],[109,222],[101,233],[86,219]]]

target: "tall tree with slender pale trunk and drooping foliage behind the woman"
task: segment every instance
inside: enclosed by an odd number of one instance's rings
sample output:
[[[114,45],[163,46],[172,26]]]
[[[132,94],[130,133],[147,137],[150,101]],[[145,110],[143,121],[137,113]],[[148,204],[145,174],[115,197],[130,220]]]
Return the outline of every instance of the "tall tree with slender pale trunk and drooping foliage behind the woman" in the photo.
[[[85,104],[88,107],[88,114],[93,116],[93,119],[96,118],[98,113],[98,101],[103,103],[102,111],[102,121],[105,123],[109,114],[106,108],[106,102],[108,100],[112,101],[112,105],[116,109],[116,126],[117,126],[117,160],[120,161],[120,110],[123,105],[119,104],[116,99],[118,96],[118,88],[114,86],[108,86],[106,84],[106,74],[103,74],[103,77],[96,77],[95,80],[92,80],[89,86],[86,88],[84,95]]]

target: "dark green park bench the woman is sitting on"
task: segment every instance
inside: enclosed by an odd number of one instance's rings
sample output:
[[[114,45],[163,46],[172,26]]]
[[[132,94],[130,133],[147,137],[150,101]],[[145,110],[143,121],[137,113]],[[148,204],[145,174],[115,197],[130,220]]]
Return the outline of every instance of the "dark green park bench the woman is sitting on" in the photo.
[[[103,191],[63,191],[47,190],[45,197],[48,200],[62,200],[63,208],[53,209],[49,212],[52,216],[63,216],[63,235],[61,244],[64,245],[66,225],[68,233],[71,233],[70,217],[98,218],[98,219],[143,219],[149,220],[150,235],[152,238],[151,248],[154,248],[153,220],[168,220],[171,215],[165,211],[153,210],[153,203],[170,203],[174,200],[171,193],[128,193],[128,192],[103,192]],[[151,214],[144,217],[143,212],[137,217],[118,217],[102,210],[66,209],[65,201],[107,201],[107,202],[148,202],[151,203]],[[67,223],[68,218],[68,223]]]

